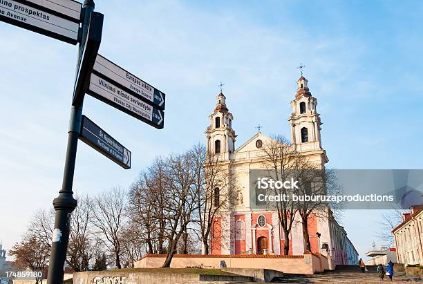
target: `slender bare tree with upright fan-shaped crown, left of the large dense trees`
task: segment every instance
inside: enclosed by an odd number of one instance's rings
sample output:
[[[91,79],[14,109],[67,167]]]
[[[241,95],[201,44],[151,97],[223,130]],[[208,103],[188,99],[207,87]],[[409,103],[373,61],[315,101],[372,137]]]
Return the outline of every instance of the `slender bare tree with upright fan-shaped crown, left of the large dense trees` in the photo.
[[[115,265],[122,268],[122,229],[125,223],[126,193],[119,188],[104,191],[93,199],[91,219],[102,235],[102,243],[115,258]]]

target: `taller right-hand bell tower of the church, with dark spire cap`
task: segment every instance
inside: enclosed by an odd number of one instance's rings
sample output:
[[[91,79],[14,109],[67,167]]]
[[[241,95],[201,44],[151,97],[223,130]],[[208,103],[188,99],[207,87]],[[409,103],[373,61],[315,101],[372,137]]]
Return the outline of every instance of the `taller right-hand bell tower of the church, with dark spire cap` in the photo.
[[[321,122],[317,113],[317,99],[307,86],[308,80],[301,77],[297,81],[295,100],[291,102],[292,113],[288,121],[291,125],[292,144],[297,151],[321,150]]]

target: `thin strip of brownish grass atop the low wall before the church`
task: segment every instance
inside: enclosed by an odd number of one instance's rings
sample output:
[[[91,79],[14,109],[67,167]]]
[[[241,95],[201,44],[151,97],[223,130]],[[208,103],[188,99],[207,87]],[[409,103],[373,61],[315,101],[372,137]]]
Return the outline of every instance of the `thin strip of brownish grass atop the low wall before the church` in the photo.
[[[164,273],[164,274],[203,274],[203,275],[236,275],[230,272],[225,272],[220,269],[209,268],[124,268],[111,269],[109,272],[146,272],[146,273]]]

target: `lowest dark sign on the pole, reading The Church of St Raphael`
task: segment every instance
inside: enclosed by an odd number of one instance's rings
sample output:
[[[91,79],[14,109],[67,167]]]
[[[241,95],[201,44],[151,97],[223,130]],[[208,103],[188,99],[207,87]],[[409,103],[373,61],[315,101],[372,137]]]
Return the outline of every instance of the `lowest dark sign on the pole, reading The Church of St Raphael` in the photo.
[[[131,151],[100,129],[97,124],[82,115],[79,139],[84,141],[124,169],[131,169]]]

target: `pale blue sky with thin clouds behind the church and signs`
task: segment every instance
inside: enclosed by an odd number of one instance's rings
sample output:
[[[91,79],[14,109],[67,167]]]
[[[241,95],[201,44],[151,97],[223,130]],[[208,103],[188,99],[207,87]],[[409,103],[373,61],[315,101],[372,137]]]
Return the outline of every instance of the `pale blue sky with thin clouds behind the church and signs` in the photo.
[[[100,53],[167,94],[164,129],[87,97],[84,114],[133,153],[132,169],[79,143],[75,189],[127,188],[156,155],[205,140],[220,81],[240,146],[290,137],[302,62],[336,169],[421,169],[421,1],[97,1]],[[0,23],[0,238],[10,248],[62,184],[77,48]],[[341,223],[360,254],[380,211]],[[376,242],[377,243],[377,242]]]

